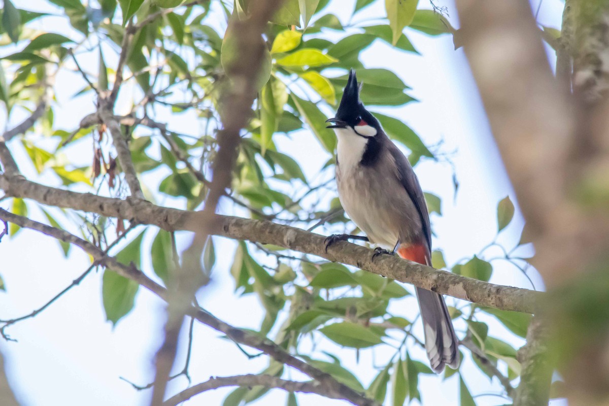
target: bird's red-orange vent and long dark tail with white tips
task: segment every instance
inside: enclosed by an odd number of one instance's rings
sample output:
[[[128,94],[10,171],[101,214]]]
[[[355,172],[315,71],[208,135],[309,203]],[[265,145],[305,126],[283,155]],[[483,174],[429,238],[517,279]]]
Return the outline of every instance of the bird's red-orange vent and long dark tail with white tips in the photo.
[[[404,259],[431,266],[431,256],[426,245],[401,245],[398,255]],[[441,373],[445,365],[459,367],[459,339],[452,327],[451,317],[442,295],[417,287],[421,319],[425,332],[425,349],[431,369]]]

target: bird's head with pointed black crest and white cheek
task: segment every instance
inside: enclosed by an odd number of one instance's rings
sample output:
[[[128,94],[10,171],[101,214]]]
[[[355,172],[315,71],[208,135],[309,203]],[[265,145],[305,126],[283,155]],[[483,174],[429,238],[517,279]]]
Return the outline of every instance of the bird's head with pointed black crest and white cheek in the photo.
[[[381,124],[359,100],[359,86],[353,69],[349,72],[349,80],[343,97],[340,99],[336,117],[328,119],[326,122],[334,123],[328,125],[327,128],[344,129],[353,135],[365,138],[374,137],[381,130]]]

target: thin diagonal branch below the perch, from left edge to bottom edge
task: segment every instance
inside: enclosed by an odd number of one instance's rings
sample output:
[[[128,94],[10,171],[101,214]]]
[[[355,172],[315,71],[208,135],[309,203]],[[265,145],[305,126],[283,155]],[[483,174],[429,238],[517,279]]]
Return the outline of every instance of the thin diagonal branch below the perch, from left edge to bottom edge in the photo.
[[[0,219],[15,223],[22,228],[33,229],[35,231],[39,231],[40,233],[54,237],[55,239],[74,244],[86,253],[91,254],[96,264],[110,268],[111,270],[116,271],[119,275],[137,282],[139,285],[142,285],[146,289],[150,290],[150,292],[155,293],[164,301],[169,299],[169,292],[167,292],[164,287],[157,284],[157,282],[152,281],[152,279],[144,275],[144,273],[136,268],[133,263],[130,265],[122,264],[121,262],[117,261],[116,258],[105,254],[104,251],[92,243],[76,237],[67,231],[44,225],[43,223],[35,222],[34,220],[27,219],[27,217],[12,214],[2,209],[0,209]],[[258,335],[233,327],[230,324],[224,323],[224,321],[214,317],[211,315],[211,313],[194,306],[189,306],[189,308],[186,309],[186,313],[203,324],[224,333],[227,335],[227,337],[231,338],[231,340],[243,345],[251,346],[252,348],[259,349],[260,351],[264,352],[264,354],[273,357],[273,359],[277,360],[278,362],[292,366],[298,369],[298,371],[307,374],[308,376],[317,380],[320,387],[325,388],[325,390],[331,393],[337,394],[336,396],[340,396],[340,399],[347,399],[351,403],[359,406],[379,406],[375,401],[367,399],[363,394],[357,393],[357,391],[354,391],[347,385],[338,382],[329,374],[326,374],[314,366],[297,359],[294,357],[294,355],[289,354],[289,352],[281,348],[281,346],[276,345],[268,338],[259,337]]]

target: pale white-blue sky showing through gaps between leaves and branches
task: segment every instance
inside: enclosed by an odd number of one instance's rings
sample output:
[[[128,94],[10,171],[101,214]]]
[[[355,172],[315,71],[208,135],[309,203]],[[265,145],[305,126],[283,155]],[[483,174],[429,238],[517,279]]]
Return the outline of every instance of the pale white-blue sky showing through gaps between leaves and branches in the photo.
[[[336,13],[343,23],[346,23],[349,13],[344,10],[351,10],[352,5],[345,7],[342,4],[342,7],[339,7],[338,1],[331,3],[325,12]],[[353,1],[349,3],[352,4]],[[421,1],[421,5],[424,5],[423,3]],[[382,4],[382,1],[377,1],[366,12],[356,15],[355,21],[382,16]],[[452,25],[458,27],[454,4],[446,0],[438,0],[436,4],[448,7]],[[40,6],[52,13],[60,13],[59,9],[40,0],[18,1],[16,5],[33,10],[39,10]],[[544,1],[538,21],[547,26],[558,27],[562,7],[563,2],[559,0]],[[534,9],[537,9],[537,1],[534,2]],[[40,28],[66,33],[65,19],[45,18],[41,20]],[[412,87],[409,93],[420,100],[403,108],[375,110],[383,110],[384,113],[403,119],[417,131],[427,145],[443,141],[440,152],[450,153],[460,183],[456,199],[453,198],[451,168],[448,164],[426,160],[418,164],[416,172],[424,191],[442,197],[443,217],[432,217],[432,225],[437,235],[434,247],[444,251],[446,262],[451,265],[464,257],[473,256],[493,240],[496,233],[496,205],[505,195],[510,195],[515,201],[515,195],[491,138],[462,49],[454,51],[452,37],[448,35],[428,37],[413,30],[406,30],[406,34],[422,55],[395,51],[387,44],[376,41],[364,51],[362,61],[368,68],[387,68],[396,72]],[[80,56],[79,61],[85,70],[97,71],[96,52],[94,50],[89,55]],[[110,57],[110,52],[105,52],[105,55],[108,66],[116,65],[116,60]],[[58,128],[76,128],[80,119],[93,111],[93,96],[89,93],[72,97],[85,85],[79,75],[64,73],[57,78],[57,83],[60,107],[55,108],[55,123],[60,123]],[[131,92],[136,92],[132,86],[126,86],[122,90],[122,108],[127,105]],[[118,112],[121,112],[120,105]],[[158,109],[157,113],[157,121],[167,122],[172,130],[193,135],[202,131],[201,124],[193,114],[172,116],[162,108]],[[4,116],[0,117],[2,124]],[[16,111],[12,123],[18,122],[22,117],[23,115]],[[31,134],[29,137],[39,138]],[[282,152],[289,153],[298,160],[309,179],[317,175],[320,167],[329,158],[306,130],[292,133],[289,138],[278,135],[276,143]],[[18,161],[23,162],[24,152],[18,139],[13,140],[9,146]],[[68,153],[71,157],[82,156],[80,161],[89,164],[90,142],[75,142]],[[37,179],[41,183],[55,182],[54,178],[47,175],[37,177],[33,168],[27,165],[22,165],[21,169],[27,177]],[[150,184],[153,184],[160,176],[160,173],[153,173],[144,177],[144,181],[148,179]],[[328,198],[331,197],[334,196]],[[180,207],[178,201],[172,198],[163,198],[158,203]],[[5,202],[1,202],[0,206],[8,208]],[[228,201],[223,202],[222,212],[242,214]],[[33,217],[40,219],[40,213],[34,211]],[[507,248],[512,248],[518,242],[522,226],[523,219],[516,209],[515,219],[501,234],[499,241]],[[78,230],[73,227],[71,231],[77,233]],[[323,228],[316,231],[330,232]],[[151,242],[152,235],[148,234],[145,246]],[[189,234],[180,233],[181,245],[184,246],[188,241]],[[256,328],[262,317],[257,299],[252,295],[245,298],[233,295],[234,283],[228,270],[234,245],[232,241],[216,239],[217,262],[213,282],[199,293],[200,303],[217,317],[235,326]],[[523,252],[530,253],[530,248]],[[0,275],[7,287],[7,293],[0,293],[0,318],[18,317],[46,303],[80,275],[89,264],[88,257],[76,248],[72,249],[69,258],[65,259],[57,243],[33,231],[21,231],[15,239],[2,240],[0,256]],[[488,256],[492,257],[493,251],[488,251]],[[146,256],[143,260],[144,271],[150,271]],[[495,271],[491,282],[530,287],[529,282],[516,268],[501,261],[495,261],[493,265]],[[162,337],[163,303],[146,290],[140,290],[133,311],[113,329],[109,322],[105,322],[102,309],[101,275],[100,272],[88,276],[79,287],[72,289],[36,318],[7,329],[7,332],[19,341],[0,341],[0,350],[5,355],[10,383],[22,406],[119,406],[148,403],[150,391],[135,391],[119,377],[139,384],[152,380],[152,357]],[[543,286],[534,271],[530,273],[530,277],[538,289]],[[447,298],[447,302],[454,304],[455,301]],[[463,303],[460,304],[462,305]],[[391,310],[410,319],[418,311],[413,298],[394,301]],[[504,339],[516,346],[523,344],[523,340],[507,333],[498,323],[490,321],[489,324],[490,335],[509,337]],[[457,335],[462,337],[465,324],[457,323],[456,329]],[[420,329],[415,329],[415,334],[421,336]],[[186,341],[183,344],[175,371],[179,371],[183,365]],[[305,351],[309,344],[304,342],[300,347],[301,351]],[[372,351],[362,351],[358,362],[354,351],[341,349],[328,340],[317,347],[318,351],[321,349],[339,355],[343,364],[356,373],[365,387],[376,375],[373,365],[384,366],[393,354],[393,350],[384,349],[375,350],[374,354]],[[255,353],[255,350],[250,352]],[[427,363],[421,349],[412,348],[411,354]],[[468,355],[463,362],[463,370],[467,371],[465,381],[474,396],[501,393],[498,382],[494,380],[489,383],[487,377],[472,366]],[[195,329],[191,360],[193,383],[202,382],[209,376],[258,373],[266,365],[265,357],[247,360],[233,343],[220,338],[217,332],[208,327],[197,326]],[[290,378],[304,379],[298,373],[293,373]],[[186,380],[183,378],[170,385],[174,392],[185,387]],[[420,391],[425,405],[457,404],[458,387],[457,376],[446,382],[442,382],[442,378],[438,376],[420,376]],[[186,404],[219,405],[231,390],[232,388],[209,391],[194,397]],[[255,402],[255,405],[284,404],[285,399],[286,393],[283,391],[272,391]],[[298,399],[301,405],[347,404],[315,395],[299,394]],[[488,406],[506,403],[505,399],[496,396],[479,396],[476,401],[479,405]]]

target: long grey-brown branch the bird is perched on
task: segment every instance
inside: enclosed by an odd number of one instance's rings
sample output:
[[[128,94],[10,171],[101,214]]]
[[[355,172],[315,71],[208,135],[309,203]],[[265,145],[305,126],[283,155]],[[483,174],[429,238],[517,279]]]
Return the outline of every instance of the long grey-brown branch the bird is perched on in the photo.
[[[153,205],[148,201],[121,200],[88,193],[78,193],[43,186],[23,178],[0,174],[0,189],[13,197],[29,198],[45,205],[120,217],[138,224],[149,224],[167,231],[195,231],[200,212],[189,212]],[[272,243],[301,253],[313,254],[329,261],[353,265],[377,275],[413,284],[423,289],[463,299],[483,306],[515,312],[535,313],[545,293],[502,286],[454,273],[435,270],[426,265],[404,261],[390,255],[371,260],[371,250],[348,242],[337,242],[325,251],[325,236],[265,220],[241,219],[217,215],[213,234],[231,239]]]

